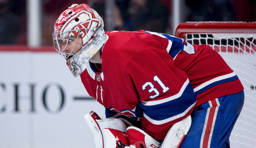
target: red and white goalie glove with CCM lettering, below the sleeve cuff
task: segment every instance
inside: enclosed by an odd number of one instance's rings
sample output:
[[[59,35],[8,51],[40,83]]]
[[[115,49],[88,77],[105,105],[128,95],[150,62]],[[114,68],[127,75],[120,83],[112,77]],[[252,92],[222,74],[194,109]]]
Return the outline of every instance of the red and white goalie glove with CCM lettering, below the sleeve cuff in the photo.
[[[129,148],[158,148],[160,146],[160,142],[139,128],[128,127],[126,133],[131,144]]]

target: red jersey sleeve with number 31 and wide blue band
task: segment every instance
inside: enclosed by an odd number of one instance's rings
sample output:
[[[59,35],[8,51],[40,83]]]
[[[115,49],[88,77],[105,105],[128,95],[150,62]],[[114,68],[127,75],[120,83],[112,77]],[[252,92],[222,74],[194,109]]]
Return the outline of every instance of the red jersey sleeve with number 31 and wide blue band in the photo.
[[[196,95],[187,75],[174,66],[167,52],[149,49],[133,56],[126,66],[144,110],[144,131],[157,140],[164,139],[170,127],[194,109]]]

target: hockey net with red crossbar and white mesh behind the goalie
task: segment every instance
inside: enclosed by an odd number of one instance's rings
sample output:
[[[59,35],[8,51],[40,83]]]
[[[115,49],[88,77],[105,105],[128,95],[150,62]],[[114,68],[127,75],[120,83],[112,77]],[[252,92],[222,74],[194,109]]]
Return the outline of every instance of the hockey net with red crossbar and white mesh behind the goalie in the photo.
[[[186,22],[175,36],[208,44],[220,53],[244,86],[245,102],[230,135],[230,147],[256,146],[256,22]]]

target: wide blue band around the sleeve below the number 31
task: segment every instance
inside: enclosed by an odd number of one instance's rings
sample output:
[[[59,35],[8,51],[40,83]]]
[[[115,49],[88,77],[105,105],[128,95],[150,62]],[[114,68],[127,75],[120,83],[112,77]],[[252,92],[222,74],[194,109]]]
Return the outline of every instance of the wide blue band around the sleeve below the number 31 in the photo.
[[[150,119],[161,121],[171,117],[177,119],[184,116],[184,112],[189,111],[187,109],[194,106],[195,103],[196,95],[191,83],[189,83],[182,95],[177,99],[156,105],[144,105],[140,102],[139,105],[144,109],[144,114]]]

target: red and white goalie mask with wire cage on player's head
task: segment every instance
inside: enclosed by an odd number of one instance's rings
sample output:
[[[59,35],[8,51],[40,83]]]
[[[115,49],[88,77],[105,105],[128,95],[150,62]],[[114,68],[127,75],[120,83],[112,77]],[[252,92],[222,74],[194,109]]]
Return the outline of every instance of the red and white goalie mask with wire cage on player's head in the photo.
[[[108,39],[98,13],[86,4],[73,4],[54,24],[55,49],[65,58],[74,77],[85,69],[90,58]]]

